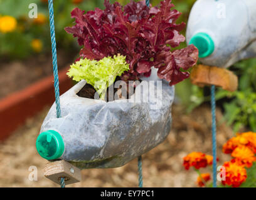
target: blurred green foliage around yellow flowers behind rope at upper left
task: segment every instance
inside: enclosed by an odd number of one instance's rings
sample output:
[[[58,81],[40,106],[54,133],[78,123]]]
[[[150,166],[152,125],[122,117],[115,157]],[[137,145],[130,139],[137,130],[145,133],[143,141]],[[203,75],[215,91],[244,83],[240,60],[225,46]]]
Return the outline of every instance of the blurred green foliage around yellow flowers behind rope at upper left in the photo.
[[[38,7],[38,14],[43,14],[46,17],[45,22],[36,24],[34,19],[30,19],[28,14],[29,4],[35,3]],[[72,0],[54,1],[55,11],[55,34],[58,48],[65,48],[66,51],[72,51],[79,47],[76,41],[67,34],[64,27],[72,25],[73,19],[70,17],[70,12],[79,7],[85,11],[101,7],[103,1],[88,1],[83,0],[80,4],[73,4]],[[17,9],[14,9],[17,8]],[[43,44],[41,53],[51,51],[50,27],[48,17],[48,2],[41,0],[0,0],[0,16],[13,16],[18,22],[17,28],[13,32],[0,32],[0,58],[5,59],[23,59],[35,53],[31,42],[33,39],[40,39]]]

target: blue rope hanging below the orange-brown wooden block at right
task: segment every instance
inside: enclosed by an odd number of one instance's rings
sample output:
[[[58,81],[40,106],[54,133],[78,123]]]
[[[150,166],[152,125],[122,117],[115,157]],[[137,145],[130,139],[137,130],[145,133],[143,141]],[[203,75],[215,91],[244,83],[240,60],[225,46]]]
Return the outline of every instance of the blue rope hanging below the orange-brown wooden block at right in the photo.
[[[211,138],[213,148],[213,187],[216,187],[217,182],[217,153],[216,153],[216,101],[215,101],[215,86],[211,86]]]

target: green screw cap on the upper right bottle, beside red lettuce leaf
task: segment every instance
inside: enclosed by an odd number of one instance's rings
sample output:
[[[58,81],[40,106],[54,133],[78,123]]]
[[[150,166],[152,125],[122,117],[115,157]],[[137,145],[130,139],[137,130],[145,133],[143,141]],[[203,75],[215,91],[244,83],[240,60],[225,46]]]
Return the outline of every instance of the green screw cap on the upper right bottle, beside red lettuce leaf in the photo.
[[[198,48],[199,58],[210,56],[214,51],[214,42],[205,32],[198,32],[191,39],[189,44],[194,44]]]

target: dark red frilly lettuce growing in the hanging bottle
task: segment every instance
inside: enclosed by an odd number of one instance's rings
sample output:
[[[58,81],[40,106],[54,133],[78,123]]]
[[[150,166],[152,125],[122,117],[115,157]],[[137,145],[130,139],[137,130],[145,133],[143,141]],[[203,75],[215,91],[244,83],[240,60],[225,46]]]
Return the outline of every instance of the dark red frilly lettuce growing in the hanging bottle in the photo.
[[[190,45],[171,52],[171,47],[185,41],[179,34],[185,24],[175,23],[181,13],[171,9],[171,0],[162,1],[160,8],[148,8],[144,1],[131,1],[124,7],[109,0],[104,4],[104,10],[96,8],[85,14],[75,8],[71,13],[75,26],[65,30],[83,46],[80,57],[99,60],[126,56],[130,70],[122,75],[125,81],[150,76],[151,66],[158,68],[159,78],[170,81],[170,85],[189,77],[184,71],[196,64],[198,49]]]

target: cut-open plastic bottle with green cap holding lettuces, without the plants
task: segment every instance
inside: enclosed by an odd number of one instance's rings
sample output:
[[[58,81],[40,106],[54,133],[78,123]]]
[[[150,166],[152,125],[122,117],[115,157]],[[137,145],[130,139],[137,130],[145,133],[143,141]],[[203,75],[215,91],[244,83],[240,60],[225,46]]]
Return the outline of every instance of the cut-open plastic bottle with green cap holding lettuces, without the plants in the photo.
[[[144,90],[145,83],[150,89]],[[131,99],[141,92],[148,97],[147,103],[143,99],[141,103],[127,103],[127,99],[107,103],[80,98],[77,93],[85,84],[80,81],[60,96],[61,118],[56,118],[55,103],[51,106],[36,141],[43,158],[63,159],[80,169],[115,168],[168,136],[174,99],[174,86],[170,87],[168,81],[157,85],[147,79],[136,87]],[[143,89],[139,91],[138,87]],[[157,102],[160,106],[154,109]]]

